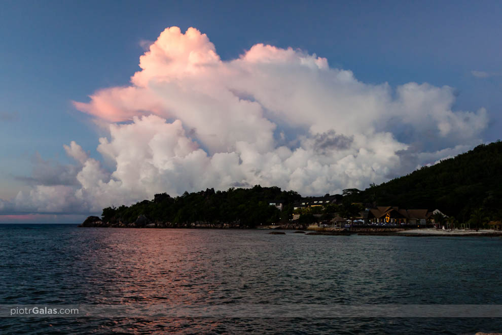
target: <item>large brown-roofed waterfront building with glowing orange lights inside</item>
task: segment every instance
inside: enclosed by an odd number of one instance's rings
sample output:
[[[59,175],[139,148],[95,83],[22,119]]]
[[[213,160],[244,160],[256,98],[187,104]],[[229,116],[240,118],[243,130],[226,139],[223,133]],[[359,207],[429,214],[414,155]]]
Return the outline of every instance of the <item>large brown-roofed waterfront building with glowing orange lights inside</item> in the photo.
[[[369,223],[379,224],[426,224],[432,212],[426,209],[400,209],[396,206],[378,206],[370,208]]]

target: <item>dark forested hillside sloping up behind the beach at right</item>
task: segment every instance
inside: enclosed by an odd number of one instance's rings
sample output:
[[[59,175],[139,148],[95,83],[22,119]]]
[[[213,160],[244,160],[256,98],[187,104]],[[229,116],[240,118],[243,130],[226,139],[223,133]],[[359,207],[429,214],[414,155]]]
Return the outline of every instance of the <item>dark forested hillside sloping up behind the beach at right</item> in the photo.
[[[353,202],[379,206],[439,209],[458,221],[482,209],[487,219],[502,218],[502,142],[479,145],[378,186],[350,195]]]

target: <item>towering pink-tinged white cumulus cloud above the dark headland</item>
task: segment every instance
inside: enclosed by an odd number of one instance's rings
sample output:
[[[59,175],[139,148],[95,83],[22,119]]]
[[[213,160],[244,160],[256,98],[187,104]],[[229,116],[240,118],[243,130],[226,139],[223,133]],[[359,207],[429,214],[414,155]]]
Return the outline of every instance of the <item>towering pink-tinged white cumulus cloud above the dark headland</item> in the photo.
[[[129,86],[74,103],[109,123],[97,149],[114,171],[72,142],[75,184],[35,185],[9,206],[99,212],[206,187],[365,188],[471,148],[488,122],[484,109],[452,111],[450,87],[365,84],[301,50],[257,44],[223,61],[195,28],[165,29],[139,66]]]

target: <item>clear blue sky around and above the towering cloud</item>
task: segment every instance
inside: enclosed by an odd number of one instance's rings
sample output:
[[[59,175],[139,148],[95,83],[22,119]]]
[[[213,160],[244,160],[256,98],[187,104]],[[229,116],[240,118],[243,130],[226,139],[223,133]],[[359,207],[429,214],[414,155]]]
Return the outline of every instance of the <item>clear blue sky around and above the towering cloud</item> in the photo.
[[[71,101],[129,84],[166,27],[206,33],[223,60],[257,43],[327,58],[367,84],[455,88],[453,109],[485,107],[486,142],[500,138],[500,2],[35,2],[0,3],[0,198],[27,189],[38,153],[70,162],[62,144],[90,156],[101,130]],[[483,72],[474,76],[472,71]]]

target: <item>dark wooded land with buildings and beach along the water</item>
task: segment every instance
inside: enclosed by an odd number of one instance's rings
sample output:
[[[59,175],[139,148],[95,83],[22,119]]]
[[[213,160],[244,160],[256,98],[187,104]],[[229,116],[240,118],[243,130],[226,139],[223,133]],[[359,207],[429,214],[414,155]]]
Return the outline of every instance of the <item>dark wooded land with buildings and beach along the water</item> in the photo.
[[[82,227],[263,228],[317,235],[498,236],[502,230],[502,143],[365,190],[302,196],[279,187],[208,188],[155,194],[131,206],[107,207]],[[384,206],[382,206],[384,205]]]

